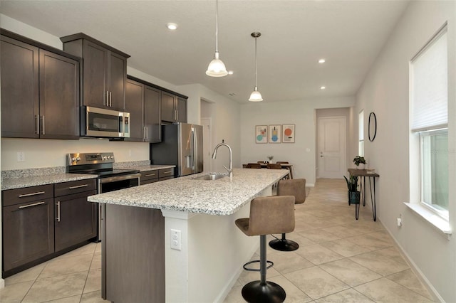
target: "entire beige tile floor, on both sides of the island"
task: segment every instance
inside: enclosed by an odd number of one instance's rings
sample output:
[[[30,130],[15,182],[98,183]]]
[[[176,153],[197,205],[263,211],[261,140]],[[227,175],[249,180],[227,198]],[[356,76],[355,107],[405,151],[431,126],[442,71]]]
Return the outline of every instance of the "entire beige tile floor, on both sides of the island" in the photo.
[[[346,195],[344,180],[318,179],[287,235],[299,250],[268,247],[267,277],[284,287],[285,302],[433,302],[381,223],[363,207],[355,220]],[[107,302],[100,259],[100,243],[90,243],[6,278],[0,302]],[[242,286],[252,280],[258,272],[242,272],[224,302],[244,302]]]

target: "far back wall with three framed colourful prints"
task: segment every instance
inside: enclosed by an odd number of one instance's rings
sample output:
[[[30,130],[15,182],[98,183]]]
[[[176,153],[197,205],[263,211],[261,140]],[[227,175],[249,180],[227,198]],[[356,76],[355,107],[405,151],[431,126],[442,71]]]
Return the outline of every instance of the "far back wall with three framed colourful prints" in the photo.
[[[241,161],[266,161],[273,155],[275,161],[293,164],[295,178],[304,178],[315,184],[316,122],[315,110],[351,107],[354,97],[315,98],[289,102],[249,102],[241,105]],[[295,143],[257,144],[255,125],[295,124]]]

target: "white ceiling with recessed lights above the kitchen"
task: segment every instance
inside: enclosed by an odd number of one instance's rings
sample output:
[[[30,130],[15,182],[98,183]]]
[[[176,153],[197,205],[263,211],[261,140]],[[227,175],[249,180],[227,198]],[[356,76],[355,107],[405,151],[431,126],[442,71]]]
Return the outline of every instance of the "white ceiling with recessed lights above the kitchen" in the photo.
[[[252,32],[261,32],[258,88],[265,102],[353,96],[407,5],[219,0],[220,58],[234,72],[222,78],[205,74],[215,50],[214,0],[1,0],[0,11],[54,36],[86,33],[131,55],[132,68],[244,103],[255,81]],[[169,22],[177,31],[166,28]]]

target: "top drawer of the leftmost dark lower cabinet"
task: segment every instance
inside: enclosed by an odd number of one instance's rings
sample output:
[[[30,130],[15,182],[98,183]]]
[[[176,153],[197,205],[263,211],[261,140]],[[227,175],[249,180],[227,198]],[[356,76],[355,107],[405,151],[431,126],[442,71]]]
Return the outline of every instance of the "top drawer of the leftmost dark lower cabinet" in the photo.
[[[10,206],[19,203],[28,203],[31,201],[41,201],[47,198],[53,198],[53,189],[53,184],[9,189],[1,192],[1,195],[3,196],[2,203],[3,206]]]

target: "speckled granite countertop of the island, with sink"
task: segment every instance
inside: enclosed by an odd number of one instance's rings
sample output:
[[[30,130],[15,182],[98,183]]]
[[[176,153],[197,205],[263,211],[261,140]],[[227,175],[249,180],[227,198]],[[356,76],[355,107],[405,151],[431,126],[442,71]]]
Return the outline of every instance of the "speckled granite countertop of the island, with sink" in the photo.
[[[194,174],[89,196],[88,201],[227,216],[288,173],[286,169],[234,169],[232,180],[226,176],[214,181],[195,180],[207,173]]]

